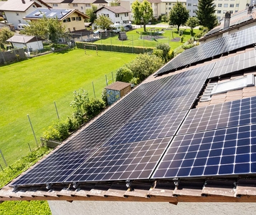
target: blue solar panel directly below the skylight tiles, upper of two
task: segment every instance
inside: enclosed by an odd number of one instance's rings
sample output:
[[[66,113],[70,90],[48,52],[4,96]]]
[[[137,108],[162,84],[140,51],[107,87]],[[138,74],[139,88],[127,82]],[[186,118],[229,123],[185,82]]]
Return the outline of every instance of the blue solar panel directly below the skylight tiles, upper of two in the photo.
[[[178,134],[256,123],[256,97],[190,110]]]

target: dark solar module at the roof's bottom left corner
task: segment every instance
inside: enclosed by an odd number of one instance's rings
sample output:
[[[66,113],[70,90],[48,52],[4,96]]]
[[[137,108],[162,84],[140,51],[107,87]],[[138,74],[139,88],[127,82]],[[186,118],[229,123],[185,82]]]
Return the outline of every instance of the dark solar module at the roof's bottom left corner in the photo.
[[[67,176],[87,160],[96,148],[75,151],[72,153],[53,153],[44,161],[34,166],[11,186],[34,185],[44,183],[62,183]]]

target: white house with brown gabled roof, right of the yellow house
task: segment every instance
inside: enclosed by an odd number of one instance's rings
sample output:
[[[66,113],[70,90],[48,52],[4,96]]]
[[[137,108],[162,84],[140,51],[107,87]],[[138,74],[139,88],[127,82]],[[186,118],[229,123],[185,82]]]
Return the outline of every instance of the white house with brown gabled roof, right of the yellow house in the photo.
[[[108,16],[113,23],[118,24],[129,24],[131,17],[128,9],[123,8],[123,6],[102,6],[98,10],[95,11],[97,16],[104,14],[104,16]]]

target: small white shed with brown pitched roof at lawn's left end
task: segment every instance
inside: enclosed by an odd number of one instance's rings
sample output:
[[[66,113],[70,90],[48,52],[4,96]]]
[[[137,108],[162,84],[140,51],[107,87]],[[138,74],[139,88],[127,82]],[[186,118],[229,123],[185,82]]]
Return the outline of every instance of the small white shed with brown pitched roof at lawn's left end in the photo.
[[[14,48],[27,48],[27,50],[31,52],[34,50],[43,49],[43,40],[44,39],[35,36],[14,35],[13,37],[7,39],[6,42],[10,42],[12,47]]]

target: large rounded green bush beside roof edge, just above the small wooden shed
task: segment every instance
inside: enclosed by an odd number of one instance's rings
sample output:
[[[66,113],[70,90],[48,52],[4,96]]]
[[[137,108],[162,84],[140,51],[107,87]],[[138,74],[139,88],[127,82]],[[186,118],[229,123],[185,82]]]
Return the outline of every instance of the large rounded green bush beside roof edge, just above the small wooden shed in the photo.
[[[138,78],[138,83],[142,82],[149,75],[156,72],[163,65],[161,58],[154,54],[138,54],[136,59],[127,65],[128,69],[133,72],[133,77]]]

